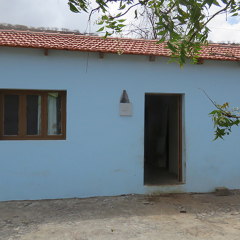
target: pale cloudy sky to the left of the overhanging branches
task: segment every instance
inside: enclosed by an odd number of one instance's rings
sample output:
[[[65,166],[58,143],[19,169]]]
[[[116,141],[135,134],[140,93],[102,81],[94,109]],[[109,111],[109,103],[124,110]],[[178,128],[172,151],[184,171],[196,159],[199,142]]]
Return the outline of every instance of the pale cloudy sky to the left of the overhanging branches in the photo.
[[[71,12],[67,3],[67,0],[0,0],[0,23],[88,32],[88,14]],[[93,26],[97,17],[95,14],[91,21],[91,32],[98,29]]]

